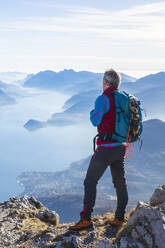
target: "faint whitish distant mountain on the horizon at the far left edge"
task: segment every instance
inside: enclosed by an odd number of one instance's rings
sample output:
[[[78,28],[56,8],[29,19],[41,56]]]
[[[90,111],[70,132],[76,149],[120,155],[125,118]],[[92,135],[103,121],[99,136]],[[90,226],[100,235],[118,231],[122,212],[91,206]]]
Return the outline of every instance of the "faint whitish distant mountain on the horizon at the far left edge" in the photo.
[[[25,79],[27,75],[23,72],[0,72],[0,80],[5,83],[12,83]]]

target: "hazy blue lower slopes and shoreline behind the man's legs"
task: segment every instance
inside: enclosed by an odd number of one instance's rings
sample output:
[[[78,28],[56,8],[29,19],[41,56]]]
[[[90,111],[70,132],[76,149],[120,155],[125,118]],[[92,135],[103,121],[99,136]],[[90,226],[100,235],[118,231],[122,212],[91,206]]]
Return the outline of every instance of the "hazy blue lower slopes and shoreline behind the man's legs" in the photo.
[[[158,119],[145,121],[142,149],[140,150],[137,142],[133,159],[126,160],[126,177],[131,206],[138,199],[148,199],[154,187],[164,182],[164,134],[165,122]],[[82,204],[83,180],[90,158],[91,156],[74,162],[64,171],[24,172],[18,177],[18,183],[25,188],[23,194],[36,196],[51,209],[56,208],[64,213],[67,208],[71,207],[72,201],[74,202],[72,208],[74,206],[78,209]],[[114,196],[110,171],[107,169],[98,185],[100,204],[97,207],[99,211],[104,211],[110,202],[113,207]],[[74,212],[73,209],[71,211]]]

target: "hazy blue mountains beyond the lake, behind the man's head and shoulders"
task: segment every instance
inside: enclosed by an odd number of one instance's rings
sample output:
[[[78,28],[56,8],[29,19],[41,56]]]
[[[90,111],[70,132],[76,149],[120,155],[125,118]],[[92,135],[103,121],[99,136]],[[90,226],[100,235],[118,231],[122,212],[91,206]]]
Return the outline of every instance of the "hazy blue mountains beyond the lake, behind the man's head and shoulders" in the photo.
[[[49,74],[52,75],[51,80]],[[49,84],[46,79],[47,75],[50,80]],[[52,79],[53,75],[57,81],[53,81],[55,80]],[[56,77],[55,75],[58,76]],[[74,77],[71,82],[72,75]],[[165,72],[151,74],[138,80],[125,74],[121,75],[122,82],[120,89],[134,94],[141,100],[142,108],[145,109],[147,118],[163,119],[165,117]],[[46,71],[32,76],[29,80],[25,81],[25,86],[47,88],[51,85],[50,89],[54,87],[53,89],[72,92],[72,96],[65,102],[63,106],[64,111],[54,113],[50,119],[41,123],[36,120],[29,120],[24,127],[29,131],[34,131],[48,125],[65,126],[86,121],[87,118],[89,119],[90,110],[94,107],[95,99],[102,93],[102,76],[103,74],[101,73],[74,72],[73,70],[64,70],[59,73]],[[58,81],[58,79],[61,81]],[[78,93],[73,94],[74,91],[78,91]]]

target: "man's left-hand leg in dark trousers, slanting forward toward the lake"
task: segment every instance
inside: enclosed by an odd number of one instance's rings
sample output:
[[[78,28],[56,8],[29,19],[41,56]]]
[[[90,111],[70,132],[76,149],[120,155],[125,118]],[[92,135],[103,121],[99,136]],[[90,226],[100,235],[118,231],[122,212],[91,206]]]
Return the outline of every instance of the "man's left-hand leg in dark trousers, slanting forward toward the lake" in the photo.
[[[91,158],[86,178],[84,180],[84,210],[81,217],[90,219],[96,200],[96,187],[99,179],[108,167],[107,150],[99,147]]]

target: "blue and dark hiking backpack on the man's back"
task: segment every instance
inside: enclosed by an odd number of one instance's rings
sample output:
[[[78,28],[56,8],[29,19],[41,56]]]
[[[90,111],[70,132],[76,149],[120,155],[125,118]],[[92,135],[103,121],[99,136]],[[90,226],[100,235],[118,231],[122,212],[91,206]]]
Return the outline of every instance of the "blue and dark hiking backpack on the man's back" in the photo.
[[[125,91],[113,91],[115,97],[115,132],[111,137],[119,142],[132,143],[143,130],[140,101]]]

